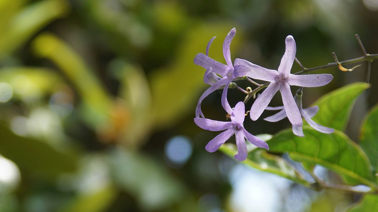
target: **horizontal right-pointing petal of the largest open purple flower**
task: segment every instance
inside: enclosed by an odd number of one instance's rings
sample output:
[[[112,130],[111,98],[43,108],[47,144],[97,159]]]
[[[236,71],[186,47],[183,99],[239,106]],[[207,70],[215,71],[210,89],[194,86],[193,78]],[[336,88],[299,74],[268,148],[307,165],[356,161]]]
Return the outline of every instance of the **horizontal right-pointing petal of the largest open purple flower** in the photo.
[[[289,74],[287,82],[290,85],[302,87],[319,87],[328,84],[332,81],[331,74],[308,74],[308,75],[294,75]]]

